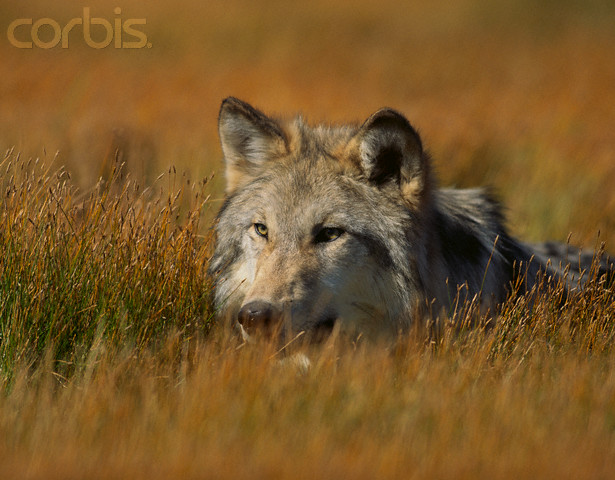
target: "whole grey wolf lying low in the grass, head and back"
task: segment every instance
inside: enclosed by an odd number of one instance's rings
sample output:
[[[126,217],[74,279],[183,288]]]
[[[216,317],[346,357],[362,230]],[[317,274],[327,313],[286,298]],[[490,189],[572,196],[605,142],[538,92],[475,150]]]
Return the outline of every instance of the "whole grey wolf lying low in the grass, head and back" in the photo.
[[[393,109],[309,126],[229,97],[218,125],[226,197],[209,274],[219,315],[244,335],[395,335],[460,293],[492,308],[540,272],[590,268],[591,253],[510,236],[489,190],[439,188]]]

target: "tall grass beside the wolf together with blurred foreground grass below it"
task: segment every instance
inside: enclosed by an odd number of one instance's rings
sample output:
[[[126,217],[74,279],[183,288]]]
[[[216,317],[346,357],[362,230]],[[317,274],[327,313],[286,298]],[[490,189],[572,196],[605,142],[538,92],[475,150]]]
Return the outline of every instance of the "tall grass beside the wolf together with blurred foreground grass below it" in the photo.
[[[118,165],[80,193],[40,160],[0,168],[2,478],[615,474],[604,278],[490,327],[460,305],[435,335],[280,352],[210,328],[206,185],[141,191]]]

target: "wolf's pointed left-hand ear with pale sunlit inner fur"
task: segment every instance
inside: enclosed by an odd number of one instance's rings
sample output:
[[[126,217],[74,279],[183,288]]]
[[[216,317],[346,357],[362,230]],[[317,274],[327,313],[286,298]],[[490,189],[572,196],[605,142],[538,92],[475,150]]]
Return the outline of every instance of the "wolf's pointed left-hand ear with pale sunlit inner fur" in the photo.
[[[222,102],[218,132],[226,163],[227,193],[257,176],[269,159],[288,151],[278,123],[234,97]]]

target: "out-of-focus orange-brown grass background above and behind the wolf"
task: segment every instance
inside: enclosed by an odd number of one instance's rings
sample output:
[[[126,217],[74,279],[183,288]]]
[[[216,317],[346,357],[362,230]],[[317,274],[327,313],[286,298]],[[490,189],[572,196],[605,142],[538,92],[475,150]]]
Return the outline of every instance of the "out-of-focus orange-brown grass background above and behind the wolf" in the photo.
[[[613,2],[88,6],[92,17],[145,19],[136,28],[151,48],[95,50],[79,27],[68,49],[0,41],[0,147],[59,151],[83,189],[110,175],[117,150],[145,185],[169,165],[195,181],[221,173],[216,117],[227,95],[313,122],[362,121],[387,105],[419,129],[443,184],[497,188],[515,234],[573,233],[592,247],[600,231],[613,244]],[[63,26],[82,13],[73,2],[5,1],[0,27],[43,17]],[[214,197],[222,184],[218,174]]]

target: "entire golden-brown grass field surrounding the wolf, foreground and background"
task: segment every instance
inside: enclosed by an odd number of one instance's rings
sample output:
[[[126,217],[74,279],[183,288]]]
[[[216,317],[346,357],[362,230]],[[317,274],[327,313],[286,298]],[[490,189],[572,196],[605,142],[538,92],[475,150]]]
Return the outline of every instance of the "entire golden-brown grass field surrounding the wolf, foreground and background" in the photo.
[[[612,2],[89,8],[146,19],[151,48],[79,27],[16,48],[13,20],[83,7],[0,4],[0,478],[615,476],[598,282],[510,301],[488,331],[332,342],[298,373],[216,325],[205,274],[227,95],[314,122],[395,107],[443,184],[496,188],[515,235],[615,251]]]

